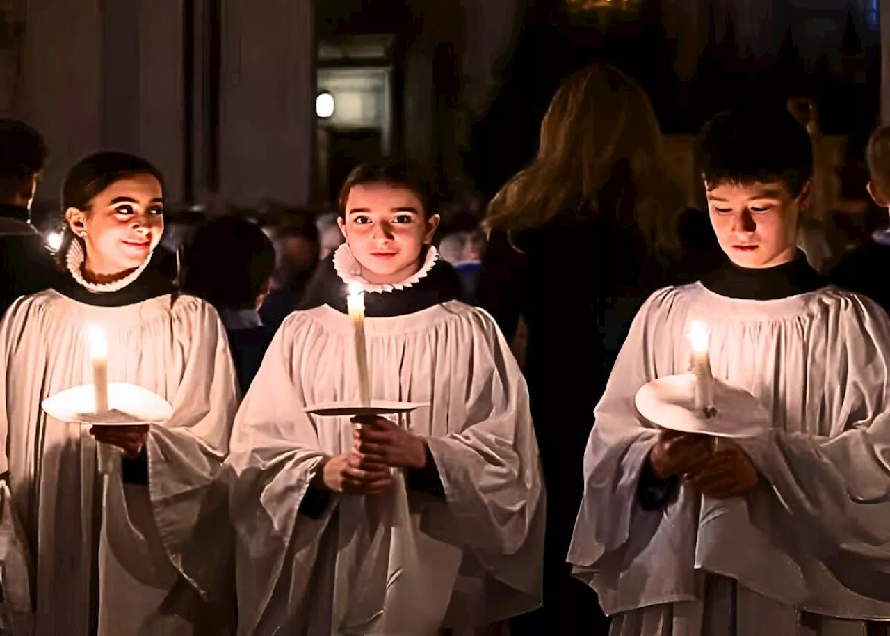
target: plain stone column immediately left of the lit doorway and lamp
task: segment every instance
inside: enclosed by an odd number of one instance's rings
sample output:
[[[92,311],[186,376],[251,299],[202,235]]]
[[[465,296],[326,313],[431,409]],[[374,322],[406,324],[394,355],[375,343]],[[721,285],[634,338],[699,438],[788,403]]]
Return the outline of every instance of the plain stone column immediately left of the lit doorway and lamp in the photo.
[[[223,3],[220,194],[309,205],[315,157],[314,0]]]

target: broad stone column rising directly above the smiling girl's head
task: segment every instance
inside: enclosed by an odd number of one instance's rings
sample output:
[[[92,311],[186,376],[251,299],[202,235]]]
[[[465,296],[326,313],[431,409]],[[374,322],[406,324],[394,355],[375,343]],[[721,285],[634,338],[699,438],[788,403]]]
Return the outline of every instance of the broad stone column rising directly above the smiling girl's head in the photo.
[[[60,199],[78,159],[101,149],[155,163],[182,191],[182,6],[178,0],[31,0],[17,114],[44,135],[38,200]]]

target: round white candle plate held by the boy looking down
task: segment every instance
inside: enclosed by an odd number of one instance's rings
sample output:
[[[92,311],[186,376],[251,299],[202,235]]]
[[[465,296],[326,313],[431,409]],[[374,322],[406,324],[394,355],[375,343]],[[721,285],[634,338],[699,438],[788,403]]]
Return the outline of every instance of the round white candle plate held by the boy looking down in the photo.
[[[659,428],[682,433],[744,439],[772,428],[763,404],[744,388],[714,379],[714,404],[701,408],[694,373],[654,379],[635,395],[636,410]]]

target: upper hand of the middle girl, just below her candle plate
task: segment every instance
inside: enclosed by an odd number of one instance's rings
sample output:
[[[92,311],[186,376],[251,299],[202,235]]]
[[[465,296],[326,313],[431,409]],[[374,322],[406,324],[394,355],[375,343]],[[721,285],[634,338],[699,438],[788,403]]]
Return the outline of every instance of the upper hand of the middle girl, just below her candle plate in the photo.
[[[352,418],[360,427],[352,431],[353,448],[364,460],[403,469],[426,467],[426,444],[422,437],[375,415]]]

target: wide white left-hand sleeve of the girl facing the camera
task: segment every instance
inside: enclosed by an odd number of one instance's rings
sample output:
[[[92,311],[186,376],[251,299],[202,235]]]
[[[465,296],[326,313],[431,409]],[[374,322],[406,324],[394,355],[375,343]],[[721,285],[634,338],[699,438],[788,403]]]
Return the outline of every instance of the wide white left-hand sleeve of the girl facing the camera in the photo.
[[[336,506],[331,496],[318,518],[297,511],[325,453],[309,416],[296,364],[295,317],[285,319],[266,351],[263,365],[241,403],[226,461],[231,524],[236,534],[239,633],[252,633],[272,591],[287,567],[303,568],[291,577],[303,598],[311,583],[309,570]]]

